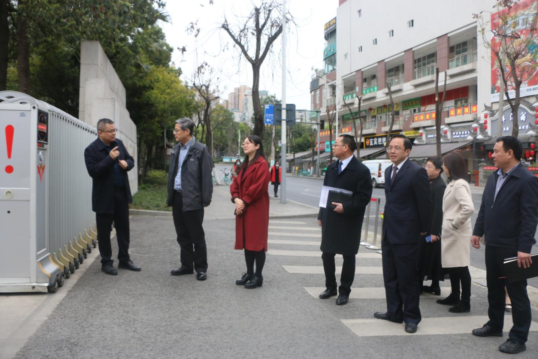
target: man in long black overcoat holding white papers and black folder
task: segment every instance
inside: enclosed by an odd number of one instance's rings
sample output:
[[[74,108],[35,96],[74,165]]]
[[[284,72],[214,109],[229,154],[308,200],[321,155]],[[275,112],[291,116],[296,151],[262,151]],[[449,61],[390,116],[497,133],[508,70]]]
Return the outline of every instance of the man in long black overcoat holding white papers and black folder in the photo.
[[[353,156],[357,144],[352,136],[339,136],[333,147],[338,161],[327,167],[323,185],[345,189],[352,194],[329,193],[329,199],[339,200],[328,200],[327,207],[320,208],[317,216],[317,223],[322,230],[321,258],[327,288],[320,294],[320,298],[327,299],[337,294],[335,255],[341,254],[344,264],[336,304],[344,305],[348,302],[355,278],[355,256],[359,251],[364,211],[372,196],[372,184],[370,170]]]

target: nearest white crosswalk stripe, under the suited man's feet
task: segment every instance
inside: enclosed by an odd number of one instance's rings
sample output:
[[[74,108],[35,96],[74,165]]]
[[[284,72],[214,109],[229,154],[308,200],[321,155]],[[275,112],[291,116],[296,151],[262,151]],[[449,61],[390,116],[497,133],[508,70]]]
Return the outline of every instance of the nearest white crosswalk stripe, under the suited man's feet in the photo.
[[[404,324],[393,323],[380,319],[342,319],[342,323],[357,336],[387,336],[387,335],[440,335],[440,334],[469,334],[473,329],[481,328],[489,318],[487,315],[443,316],[422,318],[416,333],[405,332]],[[505,315],[504,332],[512,328],[512,315]],[[530,330],[538,331],[538,323],[531,322]]]

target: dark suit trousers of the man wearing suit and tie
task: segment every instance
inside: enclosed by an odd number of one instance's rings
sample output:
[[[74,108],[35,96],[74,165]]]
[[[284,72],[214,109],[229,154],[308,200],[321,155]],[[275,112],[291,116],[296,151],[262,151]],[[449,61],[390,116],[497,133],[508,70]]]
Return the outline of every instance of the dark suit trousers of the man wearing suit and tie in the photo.
[[[387,312],[390,320],[401,323],[420,323],[420,283],[417,269],[419,245],[391,244],[384,237],[381,241],[383,251],[383,281],[387,298]]]

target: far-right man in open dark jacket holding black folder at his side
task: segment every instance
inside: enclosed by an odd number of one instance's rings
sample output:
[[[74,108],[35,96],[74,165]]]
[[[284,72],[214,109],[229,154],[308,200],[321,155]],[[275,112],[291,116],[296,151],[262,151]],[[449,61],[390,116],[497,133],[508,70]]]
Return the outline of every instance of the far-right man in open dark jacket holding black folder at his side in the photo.
[[[484,236],[486,242],[487,314],[490,318],[472,334],[502,336],[506,286],[512,300],[514,325],[499,350],[509,354],[526,350],[531,313],[527,280],[506,280],[504,261],[517,257],[522,271],[538,265],[530,258],[538,224],[538,178],[521,165],[521,154],[522,145],[517,138],[504,136],[497,139],[492,158],[499,170],[487,179],[471,237],[475,248],[480,248],[480,237]]]

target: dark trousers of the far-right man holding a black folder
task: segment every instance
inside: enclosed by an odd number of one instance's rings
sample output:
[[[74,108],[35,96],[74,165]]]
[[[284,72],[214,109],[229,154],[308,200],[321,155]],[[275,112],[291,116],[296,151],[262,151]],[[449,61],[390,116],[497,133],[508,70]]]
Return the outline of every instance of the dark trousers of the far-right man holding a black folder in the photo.
[[[487,315],[490,320],[487,325],[502,329],[505,315],[505,286],[512,301],[512,321],[514,325],[510,329],[509,338],[520,343],[525,343],[530,328],[530,301],[527,294],[527,280],[508,283],[504,278],[504,259],[518,256],[517,249],[494,247],[486,245],[486,281],[487,302],[489,308]],[[534,264],[533,265],[537,265]]]

